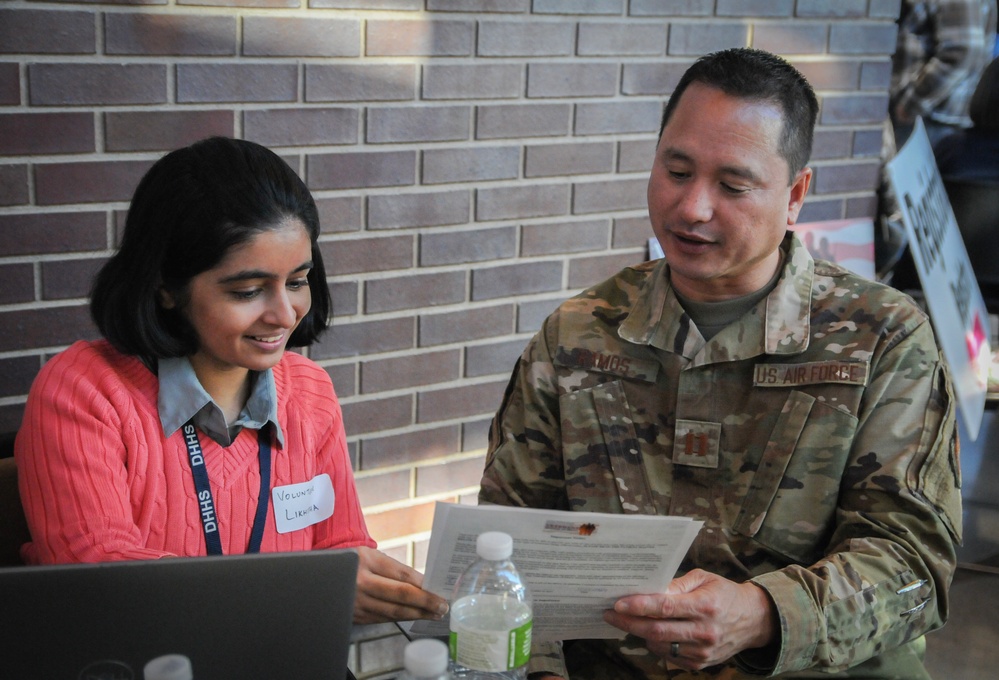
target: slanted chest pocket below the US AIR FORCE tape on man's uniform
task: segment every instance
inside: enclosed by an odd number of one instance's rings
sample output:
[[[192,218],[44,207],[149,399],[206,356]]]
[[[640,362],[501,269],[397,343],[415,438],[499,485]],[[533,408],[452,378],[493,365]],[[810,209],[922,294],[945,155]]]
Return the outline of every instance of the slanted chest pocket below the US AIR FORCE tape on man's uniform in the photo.
[[[795,562],[821,557],[856,427],[852,415],[792,391],[733,529]]]

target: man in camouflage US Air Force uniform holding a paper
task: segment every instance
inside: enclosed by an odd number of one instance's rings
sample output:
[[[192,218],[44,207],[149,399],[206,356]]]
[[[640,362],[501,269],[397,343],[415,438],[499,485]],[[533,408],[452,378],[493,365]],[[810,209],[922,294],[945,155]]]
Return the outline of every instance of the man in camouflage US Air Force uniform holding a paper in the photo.
[[[532,678],[927,677],[954,401],[926,315],[787,229],[817,108],[774,55],[698,60],[649,179],[665,259],[563,303],[521,356],[481,502],[704,522],[665,593],[605,614],[626,637],[538,645]]]

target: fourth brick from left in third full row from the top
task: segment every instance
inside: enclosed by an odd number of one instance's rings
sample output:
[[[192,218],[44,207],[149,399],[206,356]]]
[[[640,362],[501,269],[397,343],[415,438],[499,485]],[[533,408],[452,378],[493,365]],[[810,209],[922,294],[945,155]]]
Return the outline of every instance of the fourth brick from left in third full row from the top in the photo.
[[[369,108],[367,142],[449,142],[468,139],[471,108],[468,106],[420,106]]]

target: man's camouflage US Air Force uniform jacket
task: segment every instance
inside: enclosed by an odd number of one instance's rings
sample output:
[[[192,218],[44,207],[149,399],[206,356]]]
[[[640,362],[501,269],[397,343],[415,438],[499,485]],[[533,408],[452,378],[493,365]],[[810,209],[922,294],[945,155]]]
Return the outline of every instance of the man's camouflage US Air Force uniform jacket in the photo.
[[[514,370],[481,502],[703,520],[681,570],[751,579],[779,615],[774,649],[701,673],[635,637],[566,643],[573,678],[926,677],[961,532],[946,367],[908,297],[782,247],[710,342],[660,260],[564,302]],[[565,676],[558,647],[531,672]]]

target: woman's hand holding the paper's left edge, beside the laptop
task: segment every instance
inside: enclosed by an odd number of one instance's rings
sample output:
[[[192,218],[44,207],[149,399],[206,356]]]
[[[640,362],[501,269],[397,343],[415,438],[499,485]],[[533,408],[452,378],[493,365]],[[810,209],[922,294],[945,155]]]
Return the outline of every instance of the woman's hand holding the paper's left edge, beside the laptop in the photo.
[[[354,623],[440,619],[447,613],[447,601],[421,588],[420,572],[374,548],[355,550],[360,561]]]

